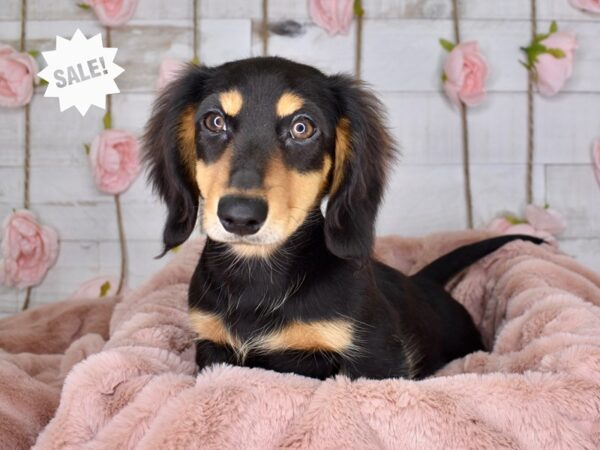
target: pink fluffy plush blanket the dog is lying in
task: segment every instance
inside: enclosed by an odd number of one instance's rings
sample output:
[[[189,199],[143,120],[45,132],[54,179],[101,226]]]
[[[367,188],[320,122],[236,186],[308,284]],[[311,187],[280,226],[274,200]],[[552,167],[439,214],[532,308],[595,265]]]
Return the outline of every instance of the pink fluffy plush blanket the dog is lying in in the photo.
[[[382,238],[377,254],[410,273],[484,236]],[[600,276],[551,247],[512,243],[449,286],[489,352],[422,381],[354,382],[223,365],[197,374],[186,294],[201,248],[192,242],[117,303],[105,343],[102,330],[83,333],[80,319],[73,342],[59,345],[52,361],[1,354],[0,368],[29,384],[13,386],[6,403],[11,383],[2,380],[0,442],[35,442],[35,449],[600,446]],[[10,323],[0,322],[0,346],[11,342],[2,335]],[[36,332],[54,339],[31,330],[31,342]],[[48,364],[54,369],[40,378]],[[7,422],[15,415],[21,420]],[[30,415],[35,420],[23,420]]]

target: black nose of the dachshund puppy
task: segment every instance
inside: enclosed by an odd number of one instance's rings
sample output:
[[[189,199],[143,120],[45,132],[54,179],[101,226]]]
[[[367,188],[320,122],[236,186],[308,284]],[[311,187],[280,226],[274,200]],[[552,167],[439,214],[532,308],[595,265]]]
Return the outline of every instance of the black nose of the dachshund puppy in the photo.
[[[217,216],[230,233],[246,236],[254,234],[267,218],[267,202],[260,198],[229,195],[219,200]]]

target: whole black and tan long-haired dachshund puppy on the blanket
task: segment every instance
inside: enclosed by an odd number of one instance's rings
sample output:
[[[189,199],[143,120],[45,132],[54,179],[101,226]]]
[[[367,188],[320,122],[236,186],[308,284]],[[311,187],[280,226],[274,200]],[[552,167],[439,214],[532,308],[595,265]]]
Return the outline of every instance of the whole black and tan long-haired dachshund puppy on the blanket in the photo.
[[[155,105],[145,148],[169,210],[165,251],[203,200],[189,292],[200,367],[421,378],[482,348],[443,284],[524,237],[462,247],[411,277],[371,259],[394,145],[353,79],[279,58],[190,67]]]

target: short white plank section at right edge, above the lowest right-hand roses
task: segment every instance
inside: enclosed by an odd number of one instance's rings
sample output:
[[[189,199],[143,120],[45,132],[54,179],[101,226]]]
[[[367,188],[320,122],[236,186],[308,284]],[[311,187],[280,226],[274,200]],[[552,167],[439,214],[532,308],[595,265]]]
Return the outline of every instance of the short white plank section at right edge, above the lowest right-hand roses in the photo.
[[[590,164],[546,166],[546,202],[568,221],[562,237],[598,237],[600,186]]]

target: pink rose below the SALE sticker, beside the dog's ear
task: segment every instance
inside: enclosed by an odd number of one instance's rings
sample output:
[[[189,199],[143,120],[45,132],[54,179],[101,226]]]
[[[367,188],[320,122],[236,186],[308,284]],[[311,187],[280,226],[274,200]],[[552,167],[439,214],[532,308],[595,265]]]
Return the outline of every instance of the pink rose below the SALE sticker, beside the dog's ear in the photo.
[[[92,142],[90,161],[98,189],[120,194],[140,171],[138,142],[128,131],[104,130]]]

